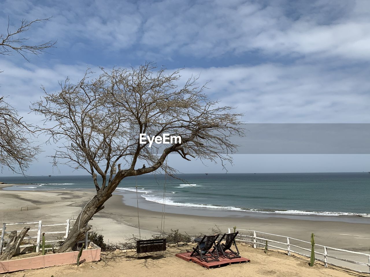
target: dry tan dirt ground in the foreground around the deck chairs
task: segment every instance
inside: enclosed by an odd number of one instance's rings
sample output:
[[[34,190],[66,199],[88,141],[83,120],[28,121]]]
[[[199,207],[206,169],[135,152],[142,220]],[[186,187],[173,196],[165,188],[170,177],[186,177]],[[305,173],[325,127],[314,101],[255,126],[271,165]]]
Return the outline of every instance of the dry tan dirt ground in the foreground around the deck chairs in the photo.
[[[135,252],[117,253],[102,252],[101,261],[83,263],[79,267],[75,264],[48,267],[37,270],[25,270],[2,274],[1,277],[120,277],[120,276],[176,276],[176,277],[245,277],[245,276],[276,276],[276,277],[313,277],[313,276],[369,276],[347,273],[342,270],[325,268],[321,264],[309,266],[306,258],[288,257],[286,254],[253,249],[240,245],[239,250],[243,257],[249,258],[250,263],[232,264],[216,269],[206,269],[195,263],[187,262],[175,257],[176,253],[185,252],[188,247],[168,248],[163,256],[159,252],[156,256],[138,257]]]

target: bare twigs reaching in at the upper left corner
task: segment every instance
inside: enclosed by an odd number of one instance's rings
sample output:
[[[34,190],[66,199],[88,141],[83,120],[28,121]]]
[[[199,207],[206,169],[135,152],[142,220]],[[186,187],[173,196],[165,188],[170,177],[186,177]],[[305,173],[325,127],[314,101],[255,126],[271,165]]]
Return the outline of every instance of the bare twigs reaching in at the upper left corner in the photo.
[[[8,19],[8,27],[6,33],[0,34],[0,54],[13,55],[13,52],[15,51],[18,54],[22,55],[24,59],[29,61],[25,54],[39,55],[43,52],[46,52],[48,48],[54,47],[54,45],[57,43],[56,41],[48,41],[39,45],[27,45],[26,42],[29,38],[23,37],[23,33],[27,32],[31,28],[32,24],[41,23],[43,21],[49,20],[50,18],[51,17],[45,19],[36,19],[31,22],[23,19],[21,21],[20,27],[14,31],[10,30]]]

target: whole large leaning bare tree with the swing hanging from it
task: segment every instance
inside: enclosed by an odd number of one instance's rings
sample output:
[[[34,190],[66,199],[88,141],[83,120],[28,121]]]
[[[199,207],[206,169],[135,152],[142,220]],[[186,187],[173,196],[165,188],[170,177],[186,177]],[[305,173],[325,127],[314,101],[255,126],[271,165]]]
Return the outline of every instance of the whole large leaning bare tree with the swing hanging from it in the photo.
[[[196,78],[179,88],[179,71],[166,74],[165,68],[157,69],[152,63],[130,70],[101,70],[95,79],[87,72],[78,83],[68,79],[60,83],[60,92],[45,91],[32,108],[45,116],[45,123],[57,123],[47,130],[52,140],[63,143],[53,156],[55,164],[83,168],[91,174],[97,191],[58,252],[73,250],[90,229],[89,220],[104,208],[122,179],[160,171],[170,153],[188,161],[197,157],[223,164],[236,151],[231,136],[243,136],[242,114],[209,99]],[[139,142],[139,134],[144,133],[181,136],[181,143],[149,147]],[[138,168],[142,161],[148,166]],[[116,165],[118,171],[113,174]]]

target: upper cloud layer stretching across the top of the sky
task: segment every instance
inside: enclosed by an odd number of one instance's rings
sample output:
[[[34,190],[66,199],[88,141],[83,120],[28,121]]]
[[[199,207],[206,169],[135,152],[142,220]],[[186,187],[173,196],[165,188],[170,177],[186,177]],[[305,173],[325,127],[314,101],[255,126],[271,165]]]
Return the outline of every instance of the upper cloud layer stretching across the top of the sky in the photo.
[[[370,3],[348,1],[85,1],[35,4],[4,1],[13,25],[20,18],[53,16],[31,39],[59,39],[58,47],[83,42],[101,51],[133,47],[142,58],[159,52],[216,57],[257,51],[369,60]],[[54,6],[55,5],[55,6]],[[21,8],[20,8],[21,7]],[[149,52],[149,56],[145,53]]]

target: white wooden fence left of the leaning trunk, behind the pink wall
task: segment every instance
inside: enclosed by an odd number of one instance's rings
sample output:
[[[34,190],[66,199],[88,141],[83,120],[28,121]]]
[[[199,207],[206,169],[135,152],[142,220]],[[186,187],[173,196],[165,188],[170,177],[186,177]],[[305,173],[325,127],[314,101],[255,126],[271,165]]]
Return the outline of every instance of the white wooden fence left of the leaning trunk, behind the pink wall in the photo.
[[[91,219],[92,220],[92,219]],[[3,223],[3,228],[0,228],[1,230],[1,239],[0,239],[0,255],[3,253],[3,250],[6,248],[6,247],[3,247],[4,245],[4,242],[6,241],[6,237],[5,235],[7,234],[10,234],[12,231],[6,231],[6,227],[7,226],[10,226],[10,225],[31,225],[31,224],[35,224],[34,225],[35,227],[37,227],[37,229],[30,229],[28,230],[27,234],[29,233],[35,233],[37,232],[37,235],[35,236],[27,236],[27,237],[24,237],[24,240],[27,240],[28,239],[28,244],[22,244],[21,247],[27,247],[27,246],[35,246],[36,245],[36,253],[38,253],[40,251],[40,241],[42,240],[42,236],[41,234],[42,233],[45,233],[45,234],[65,234],[63,236],[63,239],[51,239],[51,240],[45,240],[45,243],[47,242],[60,242],[60,241],[64,241],[67,236],[68,236],[68,233],[70,232],[70,229],[73,227],[73,223],[75,221],[75,219],[67,219],[65,220],[66,222],[65,223],[54,223],[54,224],[43,224],[42,223],[42,220],[37,220],[37,221],[29,221],[29,222],[9,222],[9,223]],[[88,224],[88,223],[87,223]],[[48,227],[48,226],[65,226],[65,230],[61,230],[61,231],[45,231],[43,232],[43,228],[45,227]],[[17,232],[20,232],[21,230],[17,230]],[[88,232],[86,232],[85,234],[85,248],[87,248],[88,246]],[[36,243],[29,243],[30,242],[30,239],[36,239]],[[58,246],[54,247],[54,249],[57,249],[59,248]],[[51,248],[46,248],[46,250],[48,249],[51,249]]]

